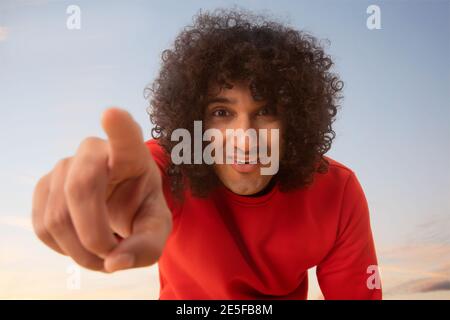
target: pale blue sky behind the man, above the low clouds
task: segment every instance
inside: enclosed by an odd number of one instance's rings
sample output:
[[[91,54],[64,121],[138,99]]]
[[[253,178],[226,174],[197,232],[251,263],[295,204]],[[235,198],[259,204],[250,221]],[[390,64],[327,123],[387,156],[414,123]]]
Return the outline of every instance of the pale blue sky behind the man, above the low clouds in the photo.
[[[66,28],[71,4],[80,30]],[[86,136],[104,137],[107,106],[130,111],[149,138],[143,90],[162,50],[199,9],[235,4],[330,41],[345,98],[328,155],[356,172],[380,250],[450,247],[450,2],[436,0],[2,0],[1,236],[31,239],[17,226],[27,229],[36,180]],[[366,27],[370,4],[381,30]]]

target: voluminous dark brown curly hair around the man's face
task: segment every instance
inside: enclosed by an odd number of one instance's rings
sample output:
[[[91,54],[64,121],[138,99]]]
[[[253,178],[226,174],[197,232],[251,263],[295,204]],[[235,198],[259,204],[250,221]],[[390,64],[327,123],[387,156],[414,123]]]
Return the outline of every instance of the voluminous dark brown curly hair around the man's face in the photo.
[[[280,106],[285,152],[277,180],[282,191],[313,182],[326,173],[323,156],[335,138],[335,120],[343,82],[330,71],[333,61],[312,35],[242,9],[200,11],[193,24],[163,51],[162,67],[146,88],[152,137],[170,154],[177,128],[193,136],[194,120],[203,120],[212,85],[230,88],[250,83],[255,100]],[[171,164],[172,192],[186,184],[196,196],[206,196],[219,183],[210,165]]]

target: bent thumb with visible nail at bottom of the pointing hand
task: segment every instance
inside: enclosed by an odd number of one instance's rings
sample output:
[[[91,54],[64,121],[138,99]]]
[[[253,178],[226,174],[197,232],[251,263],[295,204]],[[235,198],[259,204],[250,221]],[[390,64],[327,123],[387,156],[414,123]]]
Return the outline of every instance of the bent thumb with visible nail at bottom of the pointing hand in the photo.
[[[156,263],[171,229],[172,215],[163,193],[147,197],[134,218],[131,235],[106,257],[105,271],[114,272]]]

